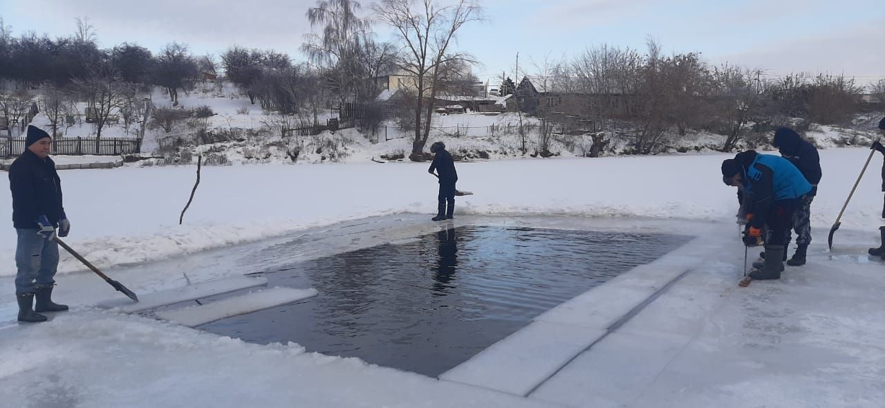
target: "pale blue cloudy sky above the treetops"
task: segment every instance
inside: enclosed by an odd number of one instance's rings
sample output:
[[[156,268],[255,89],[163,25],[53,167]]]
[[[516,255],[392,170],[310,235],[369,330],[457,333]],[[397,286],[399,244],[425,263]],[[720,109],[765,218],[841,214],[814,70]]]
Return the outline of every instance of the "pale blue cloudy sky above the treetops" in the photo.
[[[369,14],[371,2],[363,4]],[[314,0],[0,0],[14,35],[66,36],[89,17],[101,47],[137,42],[152,51],[184,42],[216,56],[230,45],[304,56]],[[602,43],[643,50],[651,35],[666,53],[700,51],[731,62],[791,72],[885,78],[885,0],[485,0],[485,21],[464,27],[458,50],[482,63],[482,80],[533,73],[545,58],[570,57]],[[377,27],[381,40],[388,30]],[[533,63],[534,62],[534,63]]]

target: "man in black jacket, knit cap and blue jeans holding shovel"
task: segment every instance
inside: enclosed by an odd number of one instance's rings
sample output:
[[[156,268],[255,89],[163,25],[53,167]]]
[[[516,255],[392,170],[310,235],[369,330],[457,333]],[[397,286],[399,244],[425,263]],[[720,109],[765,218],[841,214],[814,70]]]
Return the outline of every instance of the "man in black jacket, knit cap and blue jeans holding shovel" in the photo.
[[[58,236],[67,236],[71,223],[62,205],[55,162],[49,158],[52,138],[42,129],[28,126],[25,145],[25,152],[9,168],[12,224],[19,235],[15,294],[19,321],[36,322],[46,320],[40,312],[67,310],[65,304],[53,303],[51,296],[58,269],[56,228]]]

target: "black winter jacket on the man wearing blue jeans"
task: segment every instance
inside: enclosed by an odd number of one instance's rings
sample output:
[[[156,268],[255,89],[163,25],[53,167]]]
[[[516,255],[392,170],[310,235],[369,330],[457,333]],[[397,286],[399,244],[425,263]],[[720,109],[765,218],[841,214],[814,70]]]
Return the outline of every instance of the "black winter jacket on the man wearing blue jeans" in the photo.
[[[58,220],[66,218],[61,180],[51,158],[42,159],[31,150],[25,150],[9,168],[9,188],[12,190],[14,227],[36,228],[41,215],[58,227]]]

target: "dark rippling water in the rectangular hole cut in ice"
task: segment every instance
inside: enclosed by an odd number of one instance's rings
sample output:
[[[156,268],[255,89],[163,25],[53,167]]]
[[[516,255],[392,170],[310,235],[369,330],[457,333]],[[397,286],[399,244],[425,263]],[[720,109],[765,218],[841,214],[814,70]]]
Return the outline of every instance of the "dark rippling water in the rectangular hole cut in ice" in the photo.
[[[319,296],[203,328],[436,376],[683,242],[673,235],[509,227],[458,227],[420,238],[266,273],[271,287],[315,288]]]

